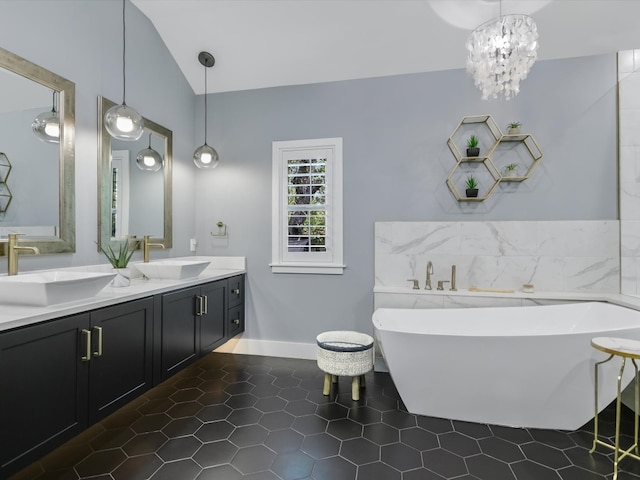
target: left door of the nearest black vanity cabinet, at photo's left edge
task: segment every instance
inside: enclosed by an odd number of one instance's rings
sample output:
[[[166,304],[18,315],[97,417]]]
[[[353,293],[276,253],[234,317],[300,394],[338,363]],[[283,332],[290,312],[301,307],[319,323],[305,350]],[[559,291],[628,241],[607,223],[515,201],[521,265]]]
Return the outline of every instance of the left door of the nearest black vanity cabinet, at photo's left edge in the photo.
[[[87,426],[89,315],[0,334],[0,478]]]

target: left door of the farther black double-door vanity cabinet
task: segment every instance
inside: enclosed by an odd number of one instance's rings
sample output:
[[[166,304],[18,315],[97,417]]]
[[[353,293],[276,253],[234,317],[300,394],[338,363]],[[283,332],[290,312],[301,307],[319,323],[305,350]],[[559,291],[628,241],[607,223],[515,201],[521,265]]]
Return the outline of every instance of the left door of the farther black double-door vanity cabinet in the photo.
[[[162,295],[162,380],[198,358],[200,335],[196,298],[200,287]]]

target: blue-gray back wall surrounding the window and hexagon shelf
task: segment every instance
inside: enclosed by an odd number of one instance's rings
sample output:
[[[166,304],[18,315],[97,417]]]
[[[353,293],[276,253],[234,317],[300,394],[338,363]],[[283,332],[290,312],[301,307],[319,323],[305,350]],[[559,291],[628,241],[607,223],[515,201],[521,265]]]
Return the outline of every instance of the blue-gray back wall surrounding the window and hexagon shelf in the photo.
[[[370,331],[375,221],[617,219],[615,92],[611,54],[538,62],[511,102],[482,101],[463,70],[212,94],[209,143],[221,163],[196,181],[199,253],[247,256],[246,338]],[[459,204],[445,186],[446,140],[463,116],[487,113],[503,129],[523,122],[545,157],[526,182]],[[321,137],[344,138],[347,269],[272,274],[271,142]],[[209,235],[217,220],[227,241]]]

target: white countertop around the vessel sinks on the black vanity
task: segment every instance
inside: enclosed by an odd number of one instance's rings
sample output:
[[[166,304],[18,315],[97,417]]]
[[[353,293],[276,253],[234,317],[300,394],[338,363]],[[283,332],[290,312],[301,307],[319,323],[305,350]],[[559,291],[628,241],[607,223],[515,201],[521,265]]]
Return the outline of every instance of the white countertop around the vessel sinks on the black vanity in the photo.
[[[197,277],[184,280],[149,280],[142,277],[131,280],[128,287],[110,287],[102,289],[95,297],[75,302],[59,303],[46,307],[23,305],[0,305],[0,331],[9,330],[24,325],[51,320],[53,318],[73,315],[97,308],[107,307],[122,302],[165,293],[180,288],[200,285],[202,283],[221,280],[246,273],[245,257],[181,257],[175,260],[208,260],[211,263]],[[130,263],[135,266],[135,263]],[[81,271],[110,271],[109,265],[89,265],[70,267],[58,270]],[[29,272],[31,273],[31,272]]]

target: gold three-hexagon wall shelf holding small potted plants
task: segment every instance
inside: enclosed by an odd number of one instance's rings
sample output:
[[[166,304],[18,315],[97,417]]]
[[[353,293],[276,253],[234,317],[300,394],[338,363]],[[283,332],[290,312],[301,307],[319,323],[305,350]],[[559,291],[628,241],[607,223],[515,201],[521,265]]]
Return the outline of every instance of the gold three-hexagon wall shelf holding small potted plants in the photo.
[[[467,157],[466,141],[470,135],[478,137],[478,146],[482,155]],[[449,136],[447,146],[453,154],[456,164],[447,176],[447,187],[459,202],[481,202],[495,191],[500,182],[522,182],[533,174],[544,156],[540,146],[528,133],[504,135],[491,115],[470,115],[462,118]],[[523,166],[524,172],[506,172],[509,164]],[[479,170],[484,168],[484,170]],[[487,175],[488,173],[488,175]],[[464,186],[465,174],[480,177],[479,185],[488,184],[478,197],[466,197],[460,194],[458,187]],[[485,180],[482,181],[482,178]]]

